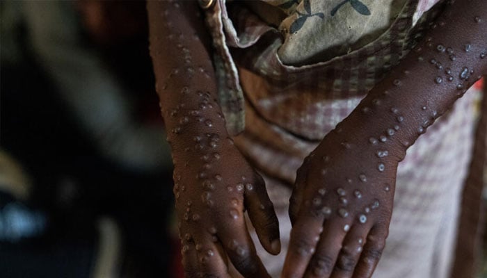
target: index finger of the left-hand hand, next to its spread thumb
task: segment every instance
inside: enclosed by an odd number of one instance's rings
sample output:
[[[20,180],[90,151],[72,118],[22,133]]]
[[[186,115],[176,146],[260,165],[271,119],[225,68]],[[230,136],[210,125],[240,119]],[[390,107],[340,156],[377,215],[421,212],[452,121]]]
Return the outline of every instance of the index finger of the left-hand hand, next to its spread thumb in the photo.
[[[228,258],[241,275],[244,277],[270,277],[257,256],[242,212],[239,213],[238,218],[232,217],[230,223],[224,221],[227,227],[220,229],[218,238]],[[232,229],[228,229],[228,227],[232,227]]]

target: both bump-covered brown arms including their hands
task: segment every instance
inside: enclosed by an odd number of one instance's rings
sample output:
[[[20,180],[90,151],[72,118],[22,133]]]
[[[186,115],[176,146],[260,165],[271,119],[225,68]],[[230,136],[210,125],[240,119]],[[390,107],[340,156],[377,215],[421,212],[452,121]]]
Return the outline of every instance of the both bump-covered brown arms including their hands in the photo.
[[[280,250],[277,218],[262,179],[225,131],[198,4],[149,1],[147,7],[157,92],[173,131],[168,138],[186,276],[228,277],[229,256],[244,277],[267,277],[243,213],[247,209],[272,254]],[[426,39],[306,158],[289,208],[294,226],[282,277],[372,275],[388,236],[397,165],[487,73],[486,38],[486,1],[449,4]],[[207,250],[214,255],[205,256]]]

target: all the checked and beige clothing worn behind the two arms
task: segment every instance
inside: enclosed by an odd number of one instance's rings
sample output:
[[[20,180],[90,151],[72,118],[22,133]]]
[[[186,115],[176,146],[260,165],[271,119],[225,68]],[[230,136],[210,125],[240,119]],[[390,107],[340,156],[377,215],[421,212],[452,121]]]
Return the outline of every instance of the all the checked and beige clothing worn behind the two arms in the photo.
[[[389,9],[374,6],[373,0],[359,2],[371,16],[376,12],[374,7],[382,14],[392,15],[392,19],[378,20],[367,31],[356,31],[349,40],[344,40],[343,29],[333,33],[333,26],[314,28],[321,19],[331,20],[332,11],[342,1],[267,0],[265,5],[256,7],[255,3],[246,6],[238,1],[221,0],[216,5],[217,12],[207,14],[209,22],[215,17],[222,22],[221,28],[211,28],[212,34],[219,30],[220,40],[226,39],[225,45],[216,42],[216,49],[231,54],[230,58],[220,56],[220,63],[230,65],[217,68],[217,76],[223,79],[232,76],[226,84],[233,88],[241,86],[245,99],[242,110],[245,130],[234,138],[235,143],[262,172],[280,220],[282,254],[275,257],[262,248],[259,250],[264,265],[276,277],[282,268],[291,229],[287,216],[290,188],[303,158],[399,63],[442,9],[442,3],[431,8],[438,1],[388,1]],[[282,5],[287,3],[292,6],[283,9]],[[266,10],[269,18],[265,17]],[[310,16],[317,13],[322,13],[323,18]],[[352,4],[339,8],[335,15],[339,13],[344,13],[342,19],[347,20],[369,16],[365,8]],[[276,18],[282,21],[279,23]],[[212,23],[209,25],[218,25],[216,21]],[[328,33],[315,34],[316,29]],[[359,33],[365,35],[360,37]],[[325,35],[334,42],[310,42]],[[299,47],[305,47],[306,54],[293,56]],[[238,75],[228,74],[232,63],[237,65]],[[218,72],[222,69],[223,72]],[[231,85],[232,82],[238,85]],[[220,91],[225,111],[227,98],[238,99],[235,93],[238,90],[230,96],[222,88]],[[374,278],[448,276],[461,189],[472,147],[475,117],[467,111],[474,110],[475,97],[474,92],[468,92],[457,101],[452,111],[440,117],[408,149],[399,164],[390,236]],[[229,126],[234,119],[230,118]],[[258,241],[255,235],[254,239]]]

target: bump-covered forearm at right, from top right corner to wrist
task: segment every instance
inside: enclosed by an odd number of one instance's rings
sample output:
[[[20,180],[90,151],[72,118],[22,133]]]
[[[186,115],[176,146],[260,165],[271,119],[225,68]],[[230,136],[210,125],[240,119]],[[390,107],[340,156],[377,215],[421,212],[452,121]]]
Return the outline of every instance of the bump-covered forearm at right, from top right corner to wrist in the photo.
[[[487,2],[447,5],[435,26],[342,122],[353,126],[360,144],[388,150],[385,160],[403,159],[426,128],[486,74]]]

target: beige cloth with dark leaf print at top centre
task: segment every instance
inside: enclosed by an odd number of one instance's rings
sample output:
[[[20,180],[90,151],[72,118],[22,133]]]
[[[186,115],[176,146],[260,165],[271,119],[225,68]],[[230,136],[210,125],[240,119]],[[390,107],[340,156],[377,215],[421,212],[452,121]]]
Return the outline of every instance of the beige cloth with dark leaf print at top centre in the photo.
[[[406,0],[250,1],[248,5],[269,24],[276,24],[272,5],[285,18],[278,29],[285,36],[278,54],[286,65],[328,60],[378,38],[397,18]],[[268,19],[270,14],[271,19]]]

